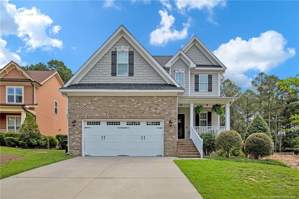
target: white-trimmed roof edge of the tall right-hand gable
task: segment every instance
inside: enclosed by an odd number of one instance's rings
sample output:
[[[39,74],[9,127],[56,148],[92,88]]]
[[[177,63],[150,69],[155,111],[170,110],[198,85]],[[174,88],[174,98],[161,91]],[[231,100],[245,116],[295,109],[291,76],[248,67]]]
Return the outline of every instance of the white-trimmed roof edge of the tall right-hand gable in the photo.
[[[184,53],[186,53],[191,46],[193,46],[193,44],[195,44],[214,65],[221,66],[224,70],[226,69],[225,65],[220,62],[220,60],[205,46],[204,43],[202,43],[202,41],[196,35],[193,36],[192,39],[190,39],[190,41],[182,48]]]

